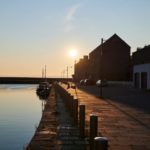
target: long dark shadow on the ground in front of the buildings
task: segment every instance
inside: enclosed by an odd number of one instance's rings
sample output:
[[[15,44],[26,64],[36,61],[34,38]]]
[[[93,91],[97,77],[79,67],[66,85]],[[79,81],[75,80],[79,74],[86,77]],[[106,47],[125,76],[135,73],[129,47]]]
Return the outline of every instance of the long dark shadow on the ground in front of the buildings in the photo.
[[[96,86],[78,86],[78,88],[97,97],[100,96],[100,89]],[[102,96],[150,113],[150,91],[137,90],[128,86],[109,85],[102,88]]]

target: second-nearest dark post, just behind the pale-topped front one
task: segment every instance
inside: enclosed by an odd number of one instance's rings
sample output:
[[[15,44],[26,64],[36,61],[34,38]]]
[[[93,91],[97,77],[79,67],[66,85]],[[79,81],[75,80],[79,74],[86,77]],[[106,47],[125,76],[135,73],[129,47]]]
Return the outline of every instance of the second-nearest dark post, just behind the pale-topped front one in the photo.
[[[90,115],[90,150],[94,149],[94,138],[97,137],[98,133],[98,117]]]

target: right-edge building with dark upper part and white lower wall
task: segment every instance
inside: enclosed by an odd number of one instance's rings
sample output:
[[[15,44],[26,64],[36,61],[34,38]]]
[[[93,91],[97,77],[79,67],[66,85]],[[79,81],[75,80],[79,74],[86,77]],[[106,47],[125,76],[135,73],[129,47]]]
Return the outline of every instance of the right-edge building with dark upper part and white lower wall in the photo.
[[[136,88],[150,89],[150,45],[132,55],[133,83]]]

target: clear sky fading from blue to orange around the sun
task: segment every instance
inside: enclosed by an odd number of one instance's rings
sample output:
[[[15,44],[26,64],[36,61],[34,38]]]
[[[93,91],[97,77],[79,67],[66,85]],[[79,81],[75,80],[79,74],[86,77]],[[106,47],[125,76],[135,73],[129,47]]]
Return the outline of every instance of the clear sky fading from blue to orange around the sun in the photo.
[[[150,0],[0,0],[0,76],[61,77],[114,33],[150,44]]]

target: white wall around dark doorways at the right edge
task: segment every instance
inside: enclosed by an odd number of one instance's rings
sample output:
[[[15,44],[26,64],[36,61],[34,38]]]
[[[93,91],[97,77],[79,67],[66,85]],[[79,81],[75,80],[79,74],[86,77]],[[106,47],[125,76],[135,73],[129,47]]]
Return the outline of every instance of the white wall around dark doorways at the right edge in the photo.
[[[133,75],[134,73],[140,73],[140,78],[141,78],[141,72],[147,72],[147,88],[150,89],[150,63],[135,65],[133,67]],[[133,82],[134,82],[134,79],[133,79]],[[140,81],[140,87],[141,87],[141,81]]]

